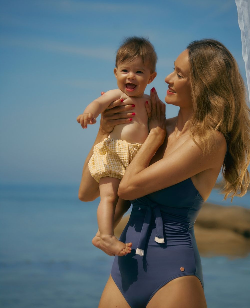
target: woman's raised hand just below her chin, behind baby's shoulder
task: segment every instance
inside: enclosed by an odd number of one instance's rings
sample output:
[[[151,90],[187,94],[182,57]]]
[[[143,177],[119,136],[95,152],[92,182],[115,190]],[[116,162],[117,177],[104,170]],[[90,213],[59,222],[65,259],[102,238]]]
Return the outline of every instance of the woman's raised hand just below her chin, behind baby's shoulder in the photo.
[[[145,103],[148,114],[148,127],[162,131],[166,135],[166,105],[159,99],[155,88],[150,91],[151,106]]]

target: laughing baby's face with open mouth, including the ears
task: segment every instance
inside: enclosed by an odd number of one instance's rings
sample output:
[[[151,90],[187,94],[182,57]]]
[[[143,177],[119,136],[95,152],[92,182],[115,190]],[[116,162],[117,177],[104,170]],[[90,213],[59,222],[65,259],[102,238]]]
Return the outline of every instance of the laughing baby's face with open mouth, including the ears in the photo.
[[[140,57],[119,63],[114,73],[119,89],[133,97],[142,97],[147,84],[156,76],[156,72],[151,73],[147,63],[144,64]]]

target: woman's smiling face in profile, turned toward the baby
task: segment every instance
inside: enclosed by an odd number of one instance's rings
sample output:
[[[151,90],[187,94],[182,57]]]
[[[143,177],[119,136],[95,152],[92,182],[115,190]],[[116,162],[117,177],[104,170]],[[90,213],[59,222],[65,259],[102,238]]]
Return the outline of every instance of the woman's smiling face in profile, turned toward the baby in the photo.
[[[188,51],[184,50],[174,62],[174,71],[165,78],[169,84],[165,102],[183,108],[192,108],[189,82]]]

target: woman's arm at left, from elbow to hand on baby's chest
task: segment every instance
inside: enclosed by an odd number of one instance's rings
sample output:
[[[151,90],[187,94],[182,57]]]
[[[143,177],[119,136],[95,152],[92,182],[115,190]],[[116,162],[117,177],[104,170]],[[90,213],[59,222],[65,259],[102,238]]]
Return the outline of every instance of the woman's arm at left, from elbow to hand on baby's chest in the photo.
[[[92,178],[88,169],[88,162],[93,154],[94,146],[107,138],[115,125],[130,123],[129,118],[133,118],[132,113],[129,112],[129,110],[133,109],[132,105],[119,106],[120,103],[121,100],[111,103],[109,105],[109,109],[105,110],[101,114],[100,128],[97,133],[96,140],[88,153],[83,166],[82,178],[78,192],[78,197],[81,201],[93,201],[100,196],[99,184],[94,178]]]

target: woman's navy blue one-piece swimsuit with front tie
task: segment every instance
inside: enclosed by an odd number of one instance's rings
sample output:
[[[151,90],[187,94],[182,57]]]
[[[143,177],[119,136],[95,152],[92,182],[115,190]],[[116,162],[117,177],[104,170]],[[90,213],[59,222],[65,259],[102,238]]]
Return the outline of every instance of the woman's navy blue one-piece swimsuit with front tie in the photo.
[[[132,242],[132,251],[123,257],[116,256],[111,270],[131,308],[145,308],[162,286],[180,276],[195,275],[203,286],[194,234],[203,199],[192,180],[186,179],[131,203],[132,212],[120,241]],[[157,242],[159,237],[164,238],[164,243]],[[136,254],[138,249],[143,256]]]

